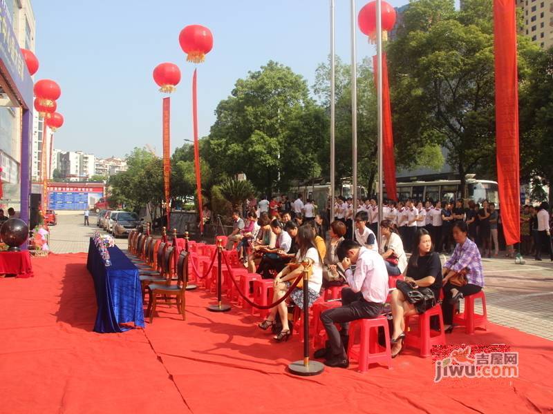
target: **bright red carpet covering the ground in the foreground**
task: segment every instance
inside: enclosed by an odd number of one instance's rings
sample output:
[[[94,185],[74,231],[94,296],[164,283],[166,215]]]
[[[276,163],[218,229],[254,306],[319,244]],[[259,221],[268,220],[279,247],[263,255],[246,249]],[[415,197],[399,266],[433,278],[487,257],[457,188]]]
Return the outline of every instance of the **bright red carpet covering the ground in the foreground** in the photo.
[[[518,413],[553,410],[553,342],[491,324],[451,344],[509,344],[514,379],[443,380],[408,349],[393,368],[317,377],[285,372],[296,337],[273,344],[259,317],[209,313],[211,295],[187,294],[187,322],[161,304],[144,331],[97,334],[86,255],[33,259],[32,279],[0,279],[0,413]]]

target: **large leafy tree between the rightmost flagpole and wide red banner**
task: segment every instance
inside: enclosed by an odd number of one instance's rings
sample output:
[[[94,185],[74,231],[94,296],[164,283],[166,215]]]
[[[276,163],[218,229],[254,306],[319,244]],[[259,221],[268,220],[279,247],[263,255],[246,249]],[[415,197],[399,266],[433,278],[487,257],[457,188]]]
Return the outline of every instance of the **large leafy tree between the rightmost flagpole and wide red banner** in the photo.
[[[491,0],[414,1],[388,44],[398,164],[409,166],[427,144],[448,150],[462,184],[494,166],[494,36]],[[523,81],[535,46],[518,38]]]

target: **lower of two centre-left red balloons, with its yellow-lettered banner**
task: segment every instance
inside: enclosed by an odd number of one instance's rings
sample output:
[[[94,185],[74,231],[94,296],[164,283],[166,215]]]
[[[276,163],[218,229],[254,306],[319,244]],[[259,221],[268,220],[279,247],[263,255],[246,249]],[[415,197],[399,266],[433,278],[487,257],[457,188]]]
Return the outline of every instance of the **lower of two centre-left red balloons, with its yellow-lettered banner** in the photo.
[[[180,69],[175,63],[160,63],[153,69],[153,81],[160,92],[170,94],[180,82]],[[163,194],[165,195],[165,213],[167,227],[171,223],[171,98],[163,98],[162,141],[163,141]]]

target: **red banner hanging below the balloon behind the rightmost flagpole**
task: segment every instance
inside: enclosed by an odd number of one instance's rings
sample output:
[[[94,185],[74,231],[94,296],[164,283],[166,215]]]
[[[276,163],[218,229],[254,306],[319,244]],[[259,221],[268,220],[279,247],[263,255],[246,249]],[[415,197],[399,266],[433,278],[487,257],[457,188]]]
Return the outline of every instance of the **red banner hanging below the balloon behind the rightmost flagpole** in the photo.
[[[375,84],[377,85],[378,60],[373,56]],[[378,88],[378,86],[377,86]],[[390,87],[388,85],[388,63],[386,53],[382,53],[382,166],[384,183],[388,199],[397,201],[395,186],[395,155],[393,152],[392,109],[390,105]]]

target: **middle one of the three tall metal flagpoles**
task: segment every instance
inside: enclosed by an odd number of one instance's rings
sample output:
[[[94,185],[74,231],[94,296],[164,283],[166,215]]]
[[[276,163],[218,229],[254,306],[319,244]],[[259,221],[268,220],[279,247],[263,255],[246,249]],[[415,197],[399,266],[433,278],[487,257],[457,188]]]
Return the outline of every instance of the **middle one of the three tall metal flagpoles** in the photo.
[[[357,56],[355,46],[355,0],[351,0],[351,135],[353,151],[353,215],[357,213]],[[353,217],[352,217],[353,220]],[[352,226],[355,239],[355,226]]]

